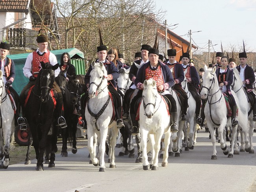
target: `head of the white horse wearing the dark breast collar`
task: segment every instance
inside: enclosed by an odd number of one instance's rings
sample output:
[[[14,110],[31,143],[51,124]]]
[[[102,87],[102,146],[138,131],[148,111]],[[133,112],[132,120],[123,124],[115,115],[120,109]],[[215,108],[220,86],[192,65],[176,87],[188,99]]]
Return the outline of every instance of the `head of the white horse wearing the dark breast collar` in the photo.
[[[107,88],[108,76],[107,70],[103,63],[93,62],[91,64],[92,70],[90,72],[90,85],[89,85],[89,98],[95,98],[100,94],[105,88]],[[108,91],[106,91],[108,93]]]

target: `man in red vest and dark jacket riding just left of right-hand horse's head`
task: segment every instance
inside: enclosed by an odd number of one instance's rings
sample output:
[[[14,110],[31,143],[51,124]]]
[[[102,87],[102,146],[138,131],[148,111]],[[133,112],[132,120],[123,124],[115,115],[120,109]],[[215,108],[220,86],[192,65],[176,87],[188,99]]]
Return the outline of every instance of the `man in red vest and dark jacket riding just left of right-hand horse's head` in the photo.
[[[182,66],[183,66],[183,71],[184,71],[184,75],[187,78],[187,85],[188,85],[188,90],[189,92],[192,94],[193,98],[196,101],[196,120],[195,122],[197,124],[201,124],[202,123],[202,118],[200,117],[199,113],[200,113],[200,108],[201,108],[201,98],[200,95],[198,94],[198,85],[199,85],[199,75],[198,72],[196,70],[196,68],[194,66],[190,66],[189,65],[189,61],[190,61],[190,55],[189,53],[185,52],[182,54]]]

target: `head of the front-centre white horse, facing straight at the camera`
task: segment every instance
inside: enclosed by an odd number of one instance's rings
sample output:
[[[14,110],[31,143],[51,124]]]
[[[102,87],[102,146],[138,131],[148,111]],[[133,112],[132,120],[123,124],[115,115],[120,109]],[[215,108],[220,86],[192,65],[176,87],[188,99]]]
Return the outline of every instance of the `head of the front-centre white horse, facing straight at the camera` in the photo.
[[[158,91],[156,89],[156,81],[148,79],[144,81],[144,89],[142,92],[143,107],[147,118],[153,118],[154,109],[156,107],[156,98]]]

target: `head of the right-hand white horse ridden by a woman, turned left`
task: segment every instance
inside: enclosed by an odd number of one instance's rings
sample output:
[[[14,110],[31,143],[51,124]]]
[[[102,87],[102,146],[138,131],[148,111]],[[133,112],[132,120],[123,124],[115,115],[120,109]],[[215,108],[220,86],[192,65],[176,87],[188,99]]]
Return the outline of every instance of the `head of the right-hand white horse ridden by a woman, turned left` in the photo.
[[[205,68],[204,75],[202,77],[202,90],[200,92],[200,96],[202,99],[206,99],[208,94],[212,94],[213,92],[216,92],[219,90],[219,85],[217,81],[217,77],[215,74],[216,67],[214,66],[212,69],[211,68]],[[213,94],[212,94],[213,95]]]

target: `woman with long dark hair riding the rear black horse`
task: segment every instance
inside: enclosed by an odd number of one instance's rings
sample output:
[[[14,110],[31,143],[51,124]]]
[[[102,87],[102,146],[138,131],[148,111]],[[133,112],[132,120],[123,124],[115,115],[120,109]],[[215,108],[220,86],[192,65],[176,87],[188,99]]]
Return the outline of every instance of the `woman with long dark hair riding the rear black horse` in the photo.
[[[70,55],[69,53],[65,52],[60,57],[60,70],[64,73],[64,76],[66,77],[66,81],[69,81],[69,78],[67,77],[67,74],[69,76],[76,75],[76,68],[74,65],[70,63]],[[82,108],[81,108],[81,97],[77,98],[77,103],[75,105],[76,109],[74,110],[73,114],[78,115],[78,117],[82,117]],[[78,128],[83,128],[84,122],[79,119],[79,122],[77,124]]]

